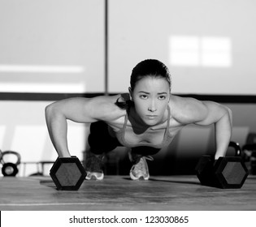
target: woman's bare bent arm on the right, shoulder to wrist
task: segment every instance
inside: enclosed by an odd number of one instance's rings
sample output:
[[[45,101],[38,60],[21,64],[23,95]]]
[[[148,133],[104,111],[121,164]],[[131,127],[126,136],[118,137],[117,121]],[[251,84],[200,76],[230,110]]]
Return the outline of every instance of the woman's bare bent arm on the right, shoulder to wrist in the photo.
[[[232,135],[232,111],[213,101],[177,98],[176,103],[177,121],[200,126],[215,124],[215,159],[225,156]]]

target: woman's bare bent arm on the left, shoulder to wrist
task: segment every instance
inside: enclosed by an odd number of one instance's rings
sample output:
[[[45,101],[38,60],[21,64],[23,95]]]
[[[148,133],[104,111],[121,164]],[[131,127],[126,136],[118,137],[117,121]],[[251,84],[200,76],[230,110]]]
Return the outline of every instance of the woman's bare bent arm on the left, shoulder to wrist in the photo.
[[[111,103],[110,98],[98,96],[91,99],[70,98],[46,106],[46,125],[60,157],[71,156],[67,146],[67,120],[91,123],[115,118],[115,105]]]

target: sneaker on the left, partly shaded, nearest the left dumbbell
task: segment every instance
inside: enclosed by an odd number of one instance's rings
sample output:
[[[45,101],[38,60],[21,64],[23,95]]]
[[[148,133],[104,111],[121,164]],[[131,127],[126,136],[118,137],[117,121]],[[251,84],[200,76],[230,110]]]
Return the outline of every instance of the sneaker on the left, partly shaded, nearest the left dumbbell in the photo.
[[[104,155],[94,155],[92,152],[87,152],[85,157],[85,171],[87,173],[86,180],[103,180]]]

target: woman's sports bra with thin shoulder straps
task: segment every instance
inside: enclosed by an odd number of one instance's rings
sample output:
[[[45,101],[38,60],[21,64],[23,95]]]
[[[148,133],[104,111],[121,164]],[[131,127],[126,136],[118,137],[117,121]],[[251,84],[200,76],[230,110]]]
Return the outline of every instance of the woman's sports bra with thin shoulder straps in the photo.
[[[170,132],[168,130],[169,126],[170,126],[170,117],[171,117],[169,105],[167,106],[167,111],[168,111],[167,127],[166,127],[164,135],[163,135],[162,143],[159,143],[159,144],[146,143],[146,142],[128,143],[125,140],[125,130],[126,130],[127,122],[128,122],[128,111],[127,111],[127,113],[125,115],[125,118],[124,118],[124,126],[123,126],[123,128],[120,129],[119,131],[115,132],[116,138],[119,140],[119,143],[121,143],[124,147],[127,147],[127,148],[135,148],[135,147],[141,147],[141,146],[144,147],[145,146],[145,147],[161,149],[163,147],[166,147],[167,145],[169,145],[169,143],[171,143],[171,135],[170,135]]]

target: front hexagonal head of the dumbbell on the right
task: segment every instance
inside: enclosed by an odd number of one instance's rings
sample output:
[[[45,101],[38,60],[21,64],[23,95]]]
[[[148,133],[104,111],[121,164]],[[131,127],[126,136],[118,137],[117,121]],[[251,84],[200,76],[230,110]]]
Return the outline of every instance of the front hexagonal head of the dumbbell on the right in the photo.
[[[241,188],[247,176],[241,157],[219,157],[215,164],[215,178],[221,188]]]

